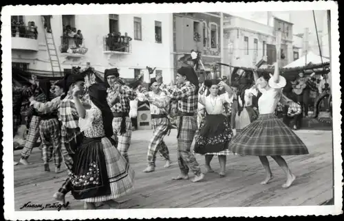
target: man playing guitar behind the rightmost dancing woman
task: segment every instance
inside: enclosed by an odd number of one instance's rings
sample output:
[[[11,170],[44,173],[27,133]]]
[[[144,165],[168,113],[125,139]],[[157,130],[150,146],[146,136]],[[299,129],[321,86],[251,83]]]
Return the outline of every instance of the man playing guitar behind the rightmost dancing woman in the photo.
[[[308,106],[310,100],[310,88],[307,85],[308,80],[310,80],[315,73],[313,72],[310,76],[305,77],[304,73],[299,73],[299,78],[292,82],[292,92],[297,95],[297,102],[304,107],[305,117],[308,117]]]

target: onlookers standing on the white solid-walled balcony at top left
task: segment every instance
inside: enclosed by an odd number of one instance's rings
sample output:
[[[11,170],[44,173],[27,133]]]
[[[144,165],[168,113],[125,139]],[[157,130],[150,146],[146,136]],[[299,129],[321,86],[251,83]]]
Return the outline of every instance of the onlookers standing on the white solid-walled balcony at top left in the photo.
[[[12,20],[11,23],[12,37],[19,36],[20,38],[32,38],[37,39],[39,32],[34,21],[29,21],[28,26],[25,26],[23,21]]]

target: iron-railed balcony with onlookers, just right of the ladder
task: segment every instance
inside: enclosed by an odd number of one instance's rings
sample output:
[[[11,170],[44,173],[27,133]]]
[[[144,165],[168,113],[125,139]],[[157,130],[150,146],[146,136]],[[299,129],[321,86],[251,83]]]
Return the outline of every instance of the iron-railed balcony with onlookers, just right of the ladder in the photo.
[[[87,51],[88,49],[85,47],[84,38],[78,38],[76,36],[61,36],[61,56],[64,56],[67,59],[72,58],[75,60],[78,58],[83,58]]]

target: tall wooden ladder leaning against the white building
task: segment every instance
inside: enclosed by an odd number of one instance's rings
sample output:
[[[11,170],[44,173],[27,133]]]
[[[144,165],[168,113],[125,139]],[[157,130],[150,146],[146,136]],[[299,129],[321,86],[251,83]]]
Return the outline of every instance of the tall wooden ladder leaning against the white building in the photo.
[[[43,16],[41,16],[41,19],[42,19],[43,28],[44,28],[45,19]],[[60,75],[62,75],[62,69],[61,69],[60,60],[58,59],[58,54],[56,51],[54,35],[52,34],[52,32],[48,33],[47,30],[44,29],[44,37],[45,37],[45,43],[47,43],[47,53],[49,54],[50,65],[52,66],[52,75],[55,76],[55,73],[59,73]]]

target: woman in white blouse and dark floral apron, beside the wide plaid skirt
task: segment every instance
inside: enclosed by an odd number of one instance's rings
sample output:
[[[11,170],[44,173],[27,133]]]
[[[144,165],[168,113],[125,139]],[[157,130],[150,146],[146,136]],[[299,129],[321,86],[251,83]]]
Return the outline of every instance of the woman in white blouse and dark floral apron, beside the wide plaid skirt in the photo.
[[[210,163],[213,156],[217,155],[221,166],[219,176],[224,177],[226,156],[233,155],[233,152],[228,149],[228,143],[233,136],[233,132],[230,127],[230,119],[224,115],[224,104],[230,102],[233,91],[220,80],[206,80],[204,86],[209,89],[210,95],[204,96],[202,90],[200,91],[201,95],[198,102],[205,107],[206,117],[201,122],[194,151],[197,154],[205,155],[206,170],[208,172],[214,172]],[[227,93],[219,95],[219,86],[224,86]]]

